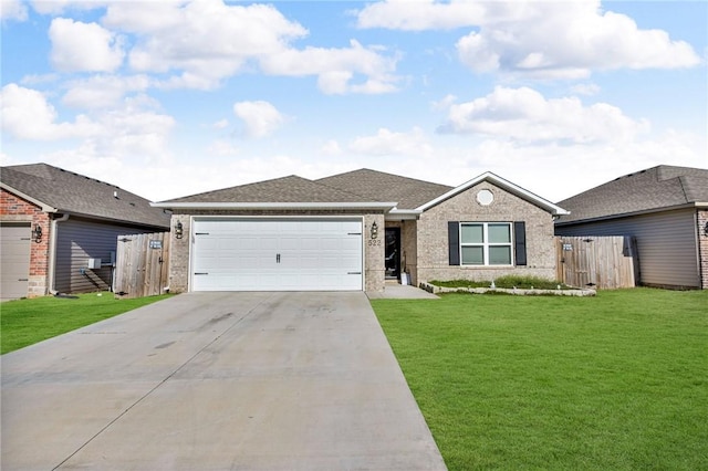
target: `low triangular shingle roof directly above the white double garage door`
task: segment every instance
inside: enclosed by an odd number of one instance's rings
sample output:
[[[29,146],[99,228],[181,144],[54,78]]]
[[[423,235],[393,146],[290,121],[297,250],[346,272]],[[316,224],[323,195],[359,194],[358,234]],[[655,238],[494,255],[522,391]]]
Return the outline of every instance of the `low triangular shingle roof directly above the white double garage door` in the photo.
[[[363,202],[366,198],[290,176],[163,201],[175,202]]]

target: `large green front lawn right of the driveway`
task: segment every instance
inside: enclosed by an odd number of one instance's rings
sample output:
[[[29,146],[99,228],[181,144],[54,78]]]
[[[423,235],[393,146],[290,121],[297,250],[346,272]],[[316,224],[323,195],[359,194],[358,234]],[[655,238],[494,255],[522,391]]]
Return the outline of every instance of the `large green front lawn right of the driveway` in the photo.
[[[372,305],[450,470],[708,469],[708,291]]]

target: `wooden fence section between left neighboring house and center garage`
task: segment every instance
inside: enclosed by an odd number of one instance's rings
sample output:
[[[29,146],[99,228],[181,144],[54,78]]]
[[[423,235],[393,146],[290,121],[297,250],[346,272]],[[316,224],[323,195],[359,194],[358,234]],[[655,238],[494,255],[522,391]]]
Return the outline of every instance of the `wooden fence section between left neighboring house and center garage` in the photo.
[[[114,293],[121,297],[163,294],[168,262],[169,232],[118,236]]]

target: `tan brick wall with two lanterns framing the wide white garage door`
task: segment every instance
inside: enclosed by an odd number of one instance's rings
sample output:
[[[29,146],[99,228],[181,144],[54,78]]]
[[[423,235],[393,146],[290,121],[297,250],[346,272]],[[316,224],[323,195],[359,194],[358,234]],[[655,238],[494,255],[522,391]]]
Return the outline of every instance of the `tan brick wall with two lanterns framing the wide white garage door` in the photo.
[[[364,219],[364,290],[383,291],[385,283],[384,265],[384,214],[362,214],[356,211],[194,211],[184,213],[175,211],[171,217],[171,247],[169,255],[169,291],[181,293],[189,290],[189,248],[190,221],[192,216],[232,216],[232,217],[291,217],[291,216],[360,216]],[[371,227],[376,221],[378,238],[371,239]],[[177,239],[175,227],[181,222],[184,237]],[[379,243],[381,242],[381,243]]]

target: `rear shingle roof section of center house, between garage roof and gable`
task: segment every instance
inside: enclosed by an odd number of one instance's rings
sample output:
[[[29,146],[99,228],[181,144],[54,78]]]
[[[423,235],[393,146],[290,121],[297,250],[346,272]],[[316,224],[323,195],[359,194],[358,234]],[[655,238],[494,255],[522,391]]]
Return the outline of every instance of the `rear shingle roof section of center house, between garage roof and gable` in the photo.
[[[396,201],[398,209],[415,209],[450,191],[452,187],[362,168],[315,180],[355,192],[374,201]]]

